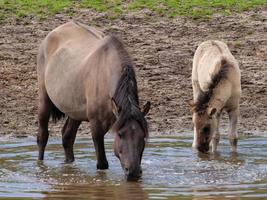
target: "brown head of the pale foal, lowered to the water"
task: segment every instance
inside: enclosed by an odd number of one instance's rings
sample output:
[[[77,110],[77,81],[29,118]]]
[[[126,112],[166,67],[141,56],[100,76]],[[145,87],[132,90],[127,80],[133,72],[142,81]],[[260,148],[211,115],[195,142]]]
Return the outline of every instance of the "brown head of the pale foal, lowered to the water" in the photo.
[[[209,151],[210,141],[216,133],[217,109],[207,107],[205,110],[197,111],[194,103],[189,103],[193,111],[194,132],[196,133],[196,148],[206,153]]]

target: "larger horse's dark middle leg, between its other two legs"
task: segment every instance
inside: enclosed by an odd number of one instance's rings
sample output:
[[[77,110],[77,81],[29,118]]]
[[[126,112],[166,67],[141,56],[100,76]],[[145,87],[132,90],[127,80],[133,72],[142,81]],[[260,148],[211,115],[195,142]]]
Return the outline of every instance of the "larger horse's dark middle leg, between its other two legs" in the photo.
[[[73,144],[80,124],[81,121],[76,121],[68,117],[61,130],[62,143],[65,151],[65,162],[74,161]]]

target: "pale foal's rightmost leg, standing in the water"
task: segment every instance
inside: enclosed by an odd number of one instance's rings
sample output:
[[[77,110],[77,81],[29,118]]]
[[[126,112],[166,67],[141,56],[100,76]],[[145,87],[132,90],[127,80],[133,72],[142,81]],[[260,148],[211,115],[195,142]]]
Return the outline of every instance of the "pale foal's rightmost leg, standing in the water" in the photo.
[[[239,109],[230,110],[228,112],[229,119],[230,119],[230,133],[229,133],[229,140],[232,147],[232,151],[236,152],[237,150],[237,121],[239,115]]]

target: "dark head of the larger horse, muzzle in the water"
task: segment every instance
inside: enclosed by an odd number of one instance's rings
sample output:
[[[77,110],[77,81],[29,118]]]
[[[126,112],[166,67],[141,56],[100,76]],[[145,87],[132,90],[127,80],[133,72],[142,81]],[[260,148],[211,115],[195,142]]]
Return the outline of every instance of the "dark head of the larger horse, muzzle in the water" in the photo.
[[[144,117],[149,109],[150,103],[148,102],[144,111],[140,112],[144,123],[131,119],[125,121],[122,126],[115,127],[114,152],[121,162],[127,180],[136,180],[142,173],[141,159],[148,137]]]

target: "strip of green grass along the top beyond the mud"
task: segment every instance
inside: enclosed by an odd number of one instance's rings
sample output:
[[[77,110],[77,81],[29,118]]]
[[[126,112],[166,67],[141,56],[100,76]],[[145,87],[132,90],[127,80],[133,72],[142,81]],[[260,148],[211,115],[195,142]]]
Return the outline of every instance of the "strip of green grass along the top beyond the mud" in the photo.
[[[267,0],[0,0],[0,20],[10,16],[45,18],[68,13],[72,8],[93,9],[107,13],[111,18],[142,9],[149,9],[159,16],[207,18],[214,13],[229,15],[260,6],[267,6]]]

